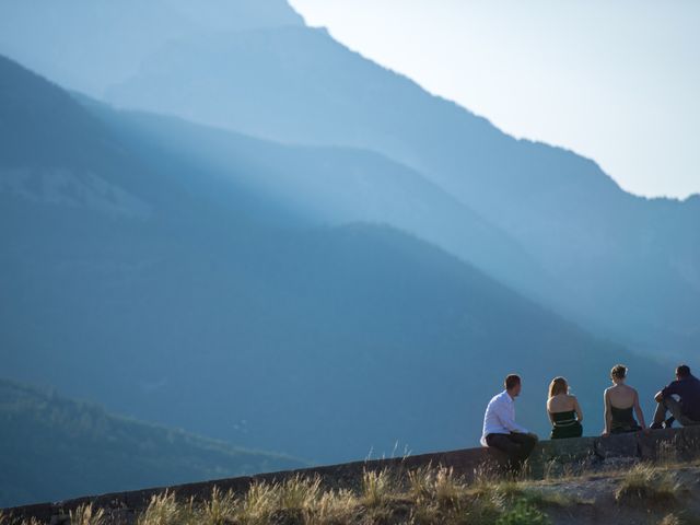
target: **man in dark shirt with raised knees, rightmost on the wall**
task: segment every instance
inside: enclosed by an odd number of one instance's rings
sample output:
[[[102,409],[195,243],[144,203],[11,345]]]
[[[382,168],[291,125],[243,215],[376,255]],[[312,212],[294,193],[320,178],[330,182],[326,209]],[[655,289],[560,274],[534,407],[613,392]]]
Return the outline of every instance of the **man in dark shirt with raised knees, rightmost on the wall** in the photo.
[[[680,400],[676,400],[678,396]],[[687,364],[676,369],[676,381],[672,382],[654,397],[656,413],[652,429],[670,428],[675,421],[684,427],[700,424],[700,380],[690,373]],[[666,419],[666,412],[672,417]]]

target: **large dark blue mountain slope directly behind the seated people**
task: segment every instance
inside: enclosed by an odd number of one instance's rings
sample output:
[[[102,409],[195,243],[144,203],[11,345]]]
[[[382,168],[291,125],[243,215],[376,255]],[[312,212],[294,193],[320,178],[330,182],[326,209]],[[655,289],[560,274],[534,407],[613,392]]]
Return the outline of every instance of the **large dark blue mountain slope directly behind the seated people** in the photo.
[[[0,66],[20,93],[49,89]],[[88,118],[52,96],[66,121]],[[13,118],[20,126],[31,116]],[[390,454],[396,442],[413,452],[474,444],[486,402],[513,370],[526,381],[521,417],[539,431],[552,375],[569,376],[588,416],[614,361],[633,362],[645,398],[665,380],[649,360],[433,245],[386,226],[313,226],[235,172],[183,162],[166,147],[136,148],[144,131],[127,139],[132,122],[110,119],[95,119],[90,137],[66,128],[75,143],[104,144],[102,161],[88,166],[102,185],[85,189],[70,158],[33,167],[0,156],[0,359],[9,376],[323,462],[371,447]],[[24,135],[37,151],[52,148],[46,129]],[[264,166],[260,176],[271,176]],[[93,200],[81,200],[89,189]],[[147,212],[132,213],[132,201]]]

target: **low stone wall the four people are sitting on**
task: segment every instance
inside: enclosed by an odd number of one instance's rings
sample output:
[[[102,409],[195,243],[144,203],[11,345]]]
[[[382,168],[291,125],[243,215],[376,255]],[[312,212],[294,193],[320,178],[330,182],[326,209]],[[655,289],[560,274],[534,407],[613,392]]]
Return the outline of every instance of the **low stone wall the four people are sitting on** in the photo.
[[[625,468],[639,460],[684,460],[698,457],[700,454],[700,427],[685,429],[654,430],[632,434],[612,435],[608,438],[580,438],[540,442],[530,458],[530,474],[534,478],[572,472],[576,470],[596,470],[600,468]],[[466,448],[460,451],[421,454],[402,458],[375,459],[346,463],[301,470],[262,474],[238,478],[219,479],[199,483],[168,487],[178,498],[196,500],[207,499],[213,489],[219,487],[224,492],[233,490],[243,493],[256,481],[282,481],[295,475],[320,476],[327,487],[357,488],[363,471],[390,468],[410,470],[429,465],[443,465],[464,475],[468,480],[481,472],[498,471],[503,456],[488,448]],[[122,515],[130,522],[137,513],[145,509],[152,495],[161,493],[165,487],[115,492],[110,494],[78,498],[56,503],[40,503],[14,509],[7,509],[5,514],[15,517],[36,517],[54,525],[67,521],[70,511],[83,503],[109,510],[112,515]]]

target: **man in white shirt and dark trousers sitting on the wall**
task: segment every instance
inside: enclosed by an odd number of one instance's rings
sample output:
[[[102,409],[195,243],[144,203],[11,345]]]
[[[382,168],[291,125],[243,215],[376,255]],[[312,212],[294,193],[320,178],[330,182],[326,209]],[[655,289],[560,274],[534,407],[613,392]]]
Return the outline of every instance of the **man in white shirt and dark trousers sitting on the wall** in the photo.
[[[521,393],[521,378],[505,377],[505,390],[494,396],[486,408],[481,444],[498,448],[509,457],[510,467],[517,470],[537,444],[537,435],[515,422],[514,400]]]

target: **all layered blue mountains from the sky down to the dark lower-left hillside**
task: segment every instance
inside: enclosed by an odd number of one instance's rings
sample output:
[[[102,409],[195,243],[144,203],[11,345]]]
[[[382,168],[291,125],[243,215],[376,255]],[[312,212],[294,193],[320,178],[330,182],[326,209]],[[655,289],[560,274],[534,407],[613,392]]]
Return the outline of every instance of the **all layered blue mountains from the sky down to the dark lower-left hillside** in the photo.
[[[0,54],[8,377],[340,462],[476,444],[513,371],[533,430],[562,374],[597,433],[612,364],[651,409],[695,355],[698,196],[629,195],[281,0],[7,0]]]

